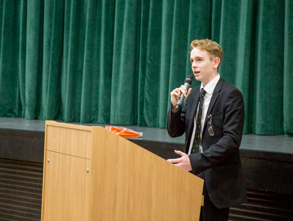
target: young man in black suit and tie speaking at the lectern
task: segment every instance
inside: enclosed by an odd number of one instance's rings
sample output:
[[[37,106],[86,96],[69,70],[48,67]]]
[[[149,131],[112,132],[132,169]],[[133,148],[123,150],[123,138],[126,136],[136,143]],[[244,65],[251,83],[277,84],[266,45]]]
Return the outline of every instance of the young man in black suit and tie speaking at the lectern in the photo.
[[[185,153],[169,159],[178,167],[205,180],[204,206],[200,220],[228,220],[229,207],[246,201],[246,189],[239,156],[244,122],[241,92],[219,75],[222,48],[209,39],[190,44],[193,74],[201,85],[186,91],[182,85],[171,92],[172,105],[167,115],[171,137],[185,133]],[[183,93],[188,100],[176,112]]]

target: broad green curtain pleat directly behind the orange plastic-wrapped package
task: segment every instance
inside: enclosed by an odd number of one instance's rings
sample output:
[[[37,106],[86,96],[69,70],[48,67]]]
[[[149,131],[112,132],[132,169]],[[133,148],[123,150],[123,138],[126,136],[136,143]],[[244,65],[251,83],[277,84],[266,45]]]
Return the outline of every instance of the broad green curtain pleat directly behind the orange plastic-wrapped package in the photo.
[[[113,44],[110,123],[137,124],[141,2],[117,0]]]

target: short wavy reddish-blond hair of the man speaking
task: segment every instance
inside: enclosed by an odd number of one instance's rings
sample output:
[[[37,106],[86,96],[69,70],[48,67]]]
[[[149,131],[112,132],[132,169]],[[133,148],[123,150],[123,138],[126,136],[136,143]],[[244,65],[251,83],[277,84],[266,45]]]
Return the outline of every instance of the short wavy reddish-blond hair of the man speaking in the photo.
[[[214,58],[220,58],[220,63],[217,69],[219,71],[219,67],[223,58],[223,50],[217,42],[209,40],[207,38],[201,40],[193,40],[190,44],[190,50],[192,50],[193,48],[206,50],[209,53],[209,59],[211,59],[211,61]]]

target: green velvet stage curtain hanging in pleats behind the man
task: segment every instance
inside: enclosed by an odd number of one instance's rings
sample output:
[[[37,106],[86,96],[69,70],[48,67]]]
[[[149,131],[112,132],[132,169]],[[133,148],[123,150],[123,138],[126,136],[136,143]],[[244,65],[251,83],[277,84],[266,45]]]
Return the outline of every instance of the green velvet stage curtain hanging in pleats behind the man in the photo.
[[[210,38],[244,133],[293,136],[292,27],[293,0],[1,0],[0,116],[164,128]]]

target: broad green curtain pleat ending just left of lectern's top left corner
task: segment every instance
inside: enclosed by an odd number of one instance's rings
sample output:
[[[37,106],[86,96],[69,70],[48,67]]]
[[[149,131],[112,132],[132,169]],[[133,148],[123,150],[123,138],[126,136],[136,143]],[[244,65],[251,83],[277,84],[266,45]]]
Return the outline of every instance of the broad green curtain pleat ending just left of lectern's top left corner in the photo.
[[[43,1],[27,1],[26,21],[25,118],[35,119],[40,111],[42,93]]]

